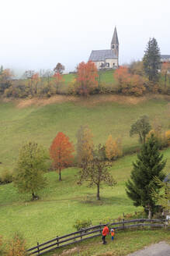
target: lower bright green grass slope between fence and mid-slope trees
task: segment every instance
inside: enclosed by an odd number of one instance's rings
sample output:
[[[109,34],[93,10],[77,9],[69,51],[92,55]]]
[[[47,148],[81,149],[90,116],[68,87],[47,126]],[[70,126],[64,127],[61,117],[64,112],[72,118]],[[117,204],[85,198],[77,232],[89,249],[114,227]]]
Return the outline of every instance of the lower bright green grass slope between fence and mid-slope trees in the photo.
[[[168,158],[166,172],[170,168],[170,148],[165,152]],[[5,238],[19,230],[26,236],[29,246],[54,236],[74,231],[76,219],[91,219],[95,225],[105,219],[116,219],[124,212],[134,213],[136,208],[125,192],[125,182],[130,177],[132,162],[136,155],[121,158],[111,169],[117,181],[113,189],[103,186],[101,201],[96,201],[96,188],[78,187],[75,175],[77,169],[62,172],[63,181],[58,181],[56,172],[48,172],[47,187],[40,191],[39,201],[30,201],[31,196],[18,194],[13,184],[0,186],[0,234]]]

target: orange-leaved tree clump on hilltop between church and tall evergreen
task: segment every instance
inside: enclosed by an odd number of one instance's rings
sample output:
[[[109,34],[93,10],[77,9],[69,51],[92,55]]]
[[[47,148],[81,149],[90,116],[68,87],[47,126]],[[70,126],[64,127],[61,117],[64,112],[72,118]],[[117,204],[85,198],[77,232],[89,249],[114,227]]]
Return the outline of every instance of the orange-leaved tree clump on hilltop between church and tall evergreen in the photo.
[[[126,66],[120,66],[116,69],[114,77],[123,94],[134,94],[140,96],[144,93],[145,78],[143,76],[132,74]]]

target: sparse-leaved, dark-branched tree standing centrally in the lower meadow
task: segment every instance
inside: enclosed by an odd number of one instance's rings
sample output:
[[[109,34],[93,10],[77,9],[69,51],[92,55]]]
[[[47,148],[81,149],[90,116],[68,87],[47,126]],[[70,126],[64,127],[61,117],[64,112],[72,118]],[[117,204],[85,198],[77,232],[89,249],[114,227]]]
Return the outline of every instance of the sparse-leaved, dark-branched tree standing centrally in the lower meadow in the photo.
[[[116,185],[116,181],[109,172],[111,165],[102,158],[104,150],[105,148],[99,144],[98,148],[92,151],[92,160],[78,172],[78,185],[82,185],[83,181],[86,181],[89,187],[95,186],[97,188],[97,200],[100,200],[102,183],[106,183],[110,187]]]

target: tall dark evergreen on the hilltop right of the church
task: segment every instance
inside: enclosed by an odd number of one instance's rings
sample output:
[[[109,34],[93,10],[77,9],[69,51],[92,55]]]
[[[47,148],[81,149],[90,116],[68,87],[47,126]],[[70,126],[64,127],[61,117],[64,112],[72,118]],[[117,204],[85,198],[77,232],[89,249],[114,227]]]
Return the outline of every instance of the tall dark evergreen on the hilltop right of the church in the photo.
[[[160,68],[161,55],[156,39],[150,38],[147,49],[144,52],[144,73],[150,81],[158,81],[158,69]]]

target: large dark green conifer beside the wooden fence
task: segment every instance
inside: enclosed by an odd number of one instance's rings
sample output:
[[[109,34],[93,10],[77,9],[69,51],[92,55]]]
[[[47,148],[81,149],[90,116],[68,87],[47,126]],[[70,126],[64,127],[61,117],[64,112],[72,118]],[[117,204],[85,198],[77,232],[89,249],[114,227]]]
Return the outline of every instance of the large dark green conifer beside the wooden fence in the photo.
[[[158,177],[161,181],[165,178],[162,170],[166,161],[162,158],[163,155],[158,151],[158,140],[152,135],[143,144],[141,152],[137,155],[137,162],[133,162],[131,179],[126,183],[128,197],[134,201],[135,206],[144,207],[149,219],[155,211],[155,200],[151,193],[161,188],[154,178]]]

